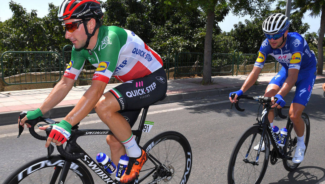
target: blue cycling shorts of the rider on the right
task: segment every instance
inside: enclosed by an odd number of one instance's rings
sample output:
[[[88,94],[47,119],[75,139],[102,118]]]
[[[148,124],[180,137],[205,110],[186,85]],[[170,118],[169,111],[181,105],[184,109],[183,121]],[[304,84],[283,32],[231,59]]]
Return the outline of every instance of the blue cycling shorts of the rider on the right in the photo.
[[[307,105],[315,84],[316,70],[317,69],[315,67],[306,71],[299,71],[296,82],[296,91],[292,103],[299,103],[304,106]],[[288,71],[282,67],[278,74],[272,78],[269,84],[276,84],[281,88],[287,77]]]

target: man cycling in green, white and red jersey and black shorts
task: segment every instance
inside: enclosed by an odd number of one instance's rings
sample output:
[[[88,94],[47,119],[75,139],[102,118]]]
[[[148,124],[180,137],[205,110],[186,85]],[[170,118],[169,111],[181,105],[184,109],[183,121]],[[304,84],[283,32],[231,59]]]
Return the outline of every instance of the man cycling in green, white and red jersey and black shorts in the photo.
[[[97,68],[91,86],[72,111],[60,123],[53,125],[45,147],[50,142],[56,145],[64,143],[70,137],[72,126],[94,108],[114,134],[106,138],[112,161],[117,164],[127,150],[129,164],[120,179],[121,183],[127,183],[138,177],[147,160],[146,152],[137,145],[131,127],[143,107],[165,96],[167,77],[162,59],[154,50],[132,31],[102,26],[102,16],[100,3],[96,0],[62,2],[58,17],[63,21],[65,38],[73,44],[71,61],[64,77],[49,96],[37,110],[28,111],[20,125],[28,119],[42,116],[59,104],[77,80],[85,60],[89,60]],[[123,83],[104,93],[112,76]],[[42,130],[46,128],[40,127]]]

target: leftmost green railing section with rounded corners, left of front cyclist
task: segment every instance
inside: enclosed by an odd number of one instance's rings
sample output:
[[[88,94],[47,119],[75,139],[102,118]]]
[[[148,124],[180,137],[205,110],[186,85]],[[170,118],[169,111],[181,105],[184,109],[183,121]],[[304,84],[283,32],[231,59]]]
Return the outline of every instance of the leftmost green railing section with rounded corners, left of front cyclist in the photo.
[[[7,51],[1,55],[1,78],[7,85],[58,82],[61,72],[57,52]]]

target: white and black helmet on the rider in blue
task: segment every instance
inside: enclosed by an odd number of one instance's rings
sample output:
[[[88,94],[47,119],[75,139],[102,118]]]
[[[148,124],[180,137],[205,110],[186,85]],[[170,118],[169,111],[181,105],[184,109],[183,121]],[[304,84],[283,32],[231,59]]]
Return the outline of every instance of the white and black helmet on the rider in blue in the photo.
[[[264,20],[262,27],[265,34],[282,33],[289,28],[289,19],[281,13],[275,13]]]

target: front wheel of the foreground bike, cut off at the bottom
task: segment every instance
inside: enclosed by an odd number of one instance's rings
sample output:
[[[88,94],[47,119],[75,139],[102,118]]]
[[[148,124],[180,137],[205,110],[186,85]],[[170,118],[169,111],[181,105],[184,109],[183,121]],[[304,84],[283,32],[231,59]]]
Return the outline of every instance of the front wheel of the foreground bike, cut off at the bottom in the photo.
[[[15,172],[6,178],[3,184],[48,184],[53,176],[55,169],[62,169],[64,158],[60,155],[53,155],[50,158],[42,157],[19,167]],[[91,176],[87,167],[78,160],[73,160],[70,166],[65,184],[69,183],[83,183],[94,184],[93,177]],[[72,172],[73,171],[73,172]],[[57,183],[60,174],[58,176]]]

